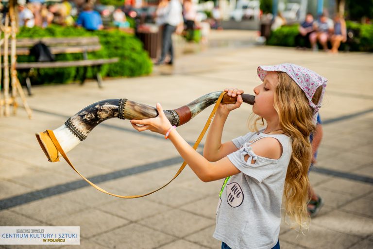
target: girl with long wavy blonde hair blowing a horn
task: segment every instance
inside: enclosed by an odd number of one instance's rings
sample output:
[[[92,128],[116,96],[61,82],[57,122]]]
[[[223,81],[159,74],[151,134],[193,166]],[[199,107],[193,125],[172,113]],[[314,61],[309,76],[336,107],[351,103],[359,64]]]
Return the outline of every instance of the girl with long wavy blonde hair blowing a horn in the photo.
[[[221,144],[228,114],[242,103],[243,90],[225,89],[235,104],[220,105],[206,137],[203,156],[190,147],[163,114],[131,120],[137,131],[166,134],[203,181],[224,180],[219,194],[214,237],[222,249],[280,248],[281,201],[286,216],[307,228],[307,171],[311,163],[309,135],[321,105],[326,79],[294,64],[259,66],[262,84],[254,88],[254,114],[267,126]],[[142,126],[138,126],[142,125]],[[171,128],[170,128],[171,127]]]

